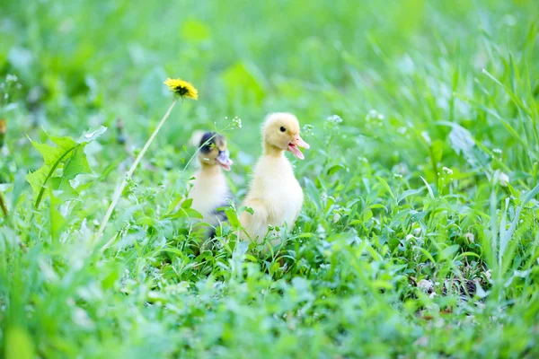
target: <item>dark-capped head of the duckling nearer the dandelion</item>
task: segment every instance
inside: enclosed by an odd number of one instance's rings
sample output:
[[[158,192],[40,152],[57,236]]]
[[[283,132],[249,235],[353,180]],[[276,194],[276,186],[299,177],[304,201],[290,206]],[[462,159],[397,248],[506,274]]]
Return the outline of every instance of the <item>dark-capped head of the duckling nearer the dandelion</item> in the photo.
[[[198,137],[198,138],[195,138]],[[193,144],[199,146],[199,162],[203,166],[220,166],[225,171],[230,171],[232,160],[228,156],[226,149],[225,136],[219,135],[216,132],[198,133]]]

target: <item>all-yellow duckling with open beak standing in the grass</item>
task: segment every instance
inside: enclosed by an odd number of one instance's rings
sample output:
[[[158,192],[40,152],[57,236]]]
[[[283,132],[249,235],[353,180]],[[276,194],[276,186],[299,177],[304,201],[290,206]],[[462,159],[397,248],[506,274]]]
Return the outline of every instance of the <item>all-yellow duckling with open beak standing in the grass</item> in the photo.
[[[253,214],[240,215],[246,234],[251,241],[261,243],[268,233],[268,225],[292,229],[303,206],[304,194],[294,176],[285,151],[300,160],[305,158],[299,147],[309,148],[299,136],[299,122],[291,113],[272,113],[262,127],[263,154],[256,164],[251,188],[243,206],[251,207]],[[271,245],[278,244],[272,233]],[[244,235],[243,235],[243,240]]]

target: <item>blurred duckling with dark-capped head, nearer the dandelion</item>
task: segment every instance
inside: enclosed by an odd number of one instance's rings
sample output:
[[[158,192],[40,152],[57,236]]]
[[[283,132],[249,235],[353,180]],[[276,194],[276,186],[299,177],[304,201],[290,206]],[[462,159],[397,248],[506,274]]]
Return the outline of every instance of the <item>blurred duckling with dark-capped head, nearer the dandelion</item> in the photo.
[[[233,164],[226,149],[225,137],[215,132],[196,132],[191,138],[191,144],[199,147],[197,157],[200,169],[196,171],[188,198],[193,200],[191,208],[202,215],[202,221],[212,226],[225,221],[225,213],[217,208],[226,206],[226,200],[231,197],[230,188],[226,183],[222,170],[230,171]],[[215,236],[215,229],[207,232],[208,238]]]

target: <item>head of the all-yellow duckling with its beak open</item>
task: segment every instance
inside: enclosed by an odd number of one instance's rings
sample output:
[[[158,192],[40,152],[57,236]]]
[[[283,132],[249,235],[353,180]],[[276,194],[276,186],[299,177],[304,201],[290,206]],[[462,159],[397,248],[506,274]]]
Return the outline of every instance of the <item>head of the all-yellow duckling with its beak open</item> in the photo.
[[[305,156],[299,147],[310,147],[299,136],[299,122],[296,116],[287,112],[268,115],[262,127],[262,137],[267,152],[271,150],[290,151],[300,160],[303,160]]]

